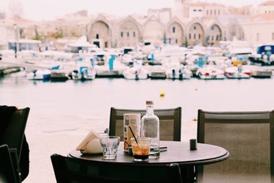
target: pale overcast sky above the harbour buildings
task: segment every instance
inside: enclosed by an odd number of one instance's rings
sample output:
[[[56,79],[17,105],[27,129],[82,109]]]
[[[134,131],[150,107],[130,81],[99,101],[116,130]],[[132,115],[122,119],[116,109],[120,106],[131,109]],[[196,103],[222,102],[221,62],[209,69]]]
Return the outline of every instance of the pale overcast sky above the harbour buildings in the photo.
[[[127,15],[146,14],[149,8],[173,8],[174,6],[174,0],[0,0],[0,10],[8,11],[9,1],[21,1],[23,17],[34,21],[55,19],[57,16],[79,10],[88,10],[89,14],[105,12]],[[206,2],[239,7],[258,5],[264,0],[207,0]]]

